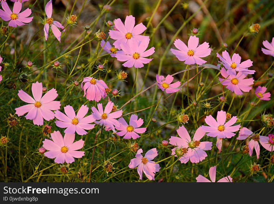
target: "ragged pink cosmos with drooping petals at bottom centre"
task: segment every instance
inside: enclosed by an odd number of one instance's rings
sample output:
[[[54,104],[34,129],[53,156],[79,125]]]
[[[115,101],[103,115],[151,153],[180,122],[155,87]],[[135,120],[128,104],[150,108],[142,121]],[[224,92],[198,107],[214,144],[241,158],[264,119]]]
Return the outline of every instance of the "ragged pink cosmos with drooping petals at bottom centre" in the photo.
[[[136,158],[130,160],[129,168],[135,168],[138,166],[137,172],[140,176],[139,179],[142,180],[144,172],[149,180],[154,180],[155,173],[160,170],[160,165],[156,164],[154,161],[151,161],[158,155],[157,149],[150,149],[144,157],[141,153],[143,153],[143,149],[138,149],[135,155]]]

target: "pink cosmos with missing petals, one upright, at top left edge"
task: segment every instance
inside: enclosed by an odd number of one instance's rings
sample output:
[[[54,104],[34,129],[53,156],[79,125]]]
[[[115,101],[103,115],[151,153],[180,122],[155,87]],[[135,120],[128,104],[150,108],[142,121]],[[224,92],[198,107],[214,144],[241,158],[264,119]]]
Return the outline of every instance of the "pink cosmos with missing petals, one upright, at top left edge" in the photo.
[[[59,42],[61,42],[61,32],[59,31],[58,28],[61,28],[61,31],[63,31],[63,32],[65,31],[65,28],[64,28],[64,26],[62,26],[61,23],[59,23],[58,21],[54,21],[53,18],[51,17],[51,15],[52,15],[52,1],[51,0],[49,2],[47,2],[46,6],[45,6],[45,12],[47,15],[46,24],[44,26],[45,39],[48,40],[49,28],[51,26],[53,35],[57,38],[57,40]]]

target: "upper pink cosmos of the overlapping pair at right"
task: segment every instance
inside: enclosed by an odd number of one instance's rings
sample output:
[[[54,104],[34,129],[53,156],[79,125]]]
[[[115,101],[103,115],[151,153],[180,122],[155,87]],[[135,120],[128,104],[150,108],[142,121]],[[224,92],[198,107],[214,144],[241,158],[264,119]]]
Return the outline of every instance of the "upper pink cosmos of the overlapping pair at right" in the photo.
[[[221,60],[221,63],[227,69],[228,74],[236,75],[236,71],[242,72],[243,74],[254,74],[255,70],[247,69],[252,66],[253,61],[250,59],[245,60],[241,63],[241,57],[239,54],[233,54],[232,58],[230,58],[228,52],[224,50],[222,52],[223,57],[217,53],[217,57]]]

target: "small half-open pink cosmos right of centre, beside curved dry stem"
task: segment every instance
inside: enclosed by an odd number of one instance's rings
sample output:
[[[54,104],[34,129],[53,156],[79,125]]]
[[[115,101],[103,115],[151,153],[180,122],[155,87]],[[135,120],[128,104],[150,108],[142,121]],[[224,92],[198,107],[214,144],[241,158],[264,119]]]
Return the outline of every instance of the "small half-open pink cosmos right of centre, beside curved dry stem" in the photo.
[[[162,91],[166,90],[166,93],[175,93],[180,90],[179,86],[181,82],[177,81],[175,83],[171,83],[173,81],[173,77],[168,74],[166,78],[162,75],[156,74],[156,80],[158,88]]]

